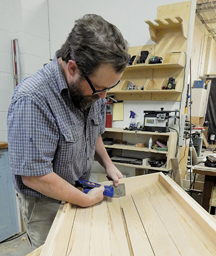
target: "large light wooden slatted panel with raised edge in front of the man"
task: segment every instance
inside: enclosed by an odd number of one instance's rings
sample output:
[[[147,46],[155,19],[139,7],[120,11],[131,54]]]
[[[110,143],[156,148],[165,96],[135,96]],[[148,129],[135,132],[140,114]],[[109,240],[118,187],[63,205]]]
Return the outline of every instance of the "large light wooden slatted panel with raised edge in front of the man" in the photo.
[[[215,255],[216,222],[162,172],[129,177],[126,196],[81,208],[62,203],[43,247],[30,255]],[[111,181],[105,184],[111,184]]]

